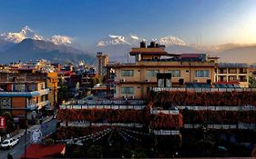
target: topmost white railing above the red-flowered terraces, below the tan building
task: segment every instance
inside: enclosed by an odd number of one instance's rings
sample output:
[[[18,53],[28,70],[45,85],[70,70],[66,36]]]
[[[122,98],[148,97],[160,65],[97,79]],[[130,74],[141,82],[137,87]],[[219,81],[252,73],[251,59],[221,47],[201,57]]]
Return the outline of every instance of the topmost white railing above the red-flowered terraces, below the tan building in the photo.
[[[151,87],[154,92],[160,91],[189,91],[189,92],[256,92],[256,88],[184,88],[184,87]]]

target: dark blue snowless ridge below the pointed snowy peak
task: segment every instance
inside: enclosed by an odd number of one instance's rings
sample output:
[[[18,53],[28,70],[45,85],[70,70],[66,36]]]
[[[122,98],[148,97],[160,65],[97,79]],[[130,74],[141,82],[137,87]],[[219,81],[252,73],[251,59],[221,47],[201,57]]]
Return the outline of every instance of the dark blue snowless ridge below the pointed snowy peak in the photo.
[[[78,63],[84,60],[87,64],[94,63],[94,55],[88,55],[82,50],[67,45],[55,45],[44,40],[24,39],[22,42],[10,46],[0,52],[1,64],[15,61],[29,61],[47,59],[55,63],[72,62]]]

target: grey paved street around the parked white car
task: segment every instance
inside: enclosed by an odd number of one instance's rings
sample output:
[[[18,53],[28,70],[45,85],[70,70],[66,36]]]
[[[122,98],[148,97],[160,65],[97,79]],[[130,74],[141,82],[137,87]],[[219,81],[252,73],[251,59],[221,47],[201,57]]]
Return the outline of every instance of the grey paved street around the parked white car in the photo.
[[[41,129],[43,136],[46,136],[47,134],[54,133],[56,131],[56,123],[57,123],[57,120],[53,119],[53,120],[49,121],[48,123],[46,123],[45,124],[46,126],[44,126],[44,127],[41,127],[40,125],[38,125]],[[7,154],[12,154],[14,159],[19,158],[22,154],[24,154],[25,147],[27,147],[30,144],[30,135],[31,135],[31,133],[29,133],[29,131],[27,131],[27,134],[23,135],[19,139],[19,143],[16,144],[12,149],[9,149],[9,150],[1,149],[0,150],[0,159],[6,159]]]

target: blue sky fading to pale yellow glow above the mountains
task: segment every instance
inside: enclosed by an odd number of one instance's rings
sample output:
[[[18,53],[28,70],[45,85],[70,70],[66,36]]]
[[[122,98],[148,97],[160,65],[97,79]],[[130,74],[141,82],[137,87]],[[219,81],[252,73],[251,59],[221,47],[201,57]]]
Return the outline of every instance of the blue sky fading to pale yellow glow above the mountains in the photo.
[[[108,35],[256,44],[256,0],[0,0],[0,34],[25,25],[84,46]]]

